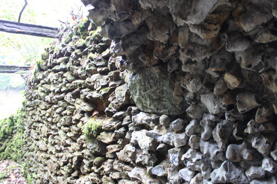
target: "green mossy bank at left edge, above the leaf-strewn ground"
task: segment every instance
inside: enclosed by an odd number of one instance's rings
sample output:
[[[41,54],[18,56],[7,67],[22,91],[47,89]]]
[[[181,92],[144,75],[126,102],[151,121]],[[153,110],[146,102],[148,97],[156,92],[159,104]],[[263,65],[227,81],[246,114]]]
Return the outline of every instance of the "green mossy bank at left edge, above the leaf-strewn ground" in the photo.
[[[24,146],[24,125],[21,120],[21,111],[15,116],[1,120],[0,126],[0,159],[20,160]]]

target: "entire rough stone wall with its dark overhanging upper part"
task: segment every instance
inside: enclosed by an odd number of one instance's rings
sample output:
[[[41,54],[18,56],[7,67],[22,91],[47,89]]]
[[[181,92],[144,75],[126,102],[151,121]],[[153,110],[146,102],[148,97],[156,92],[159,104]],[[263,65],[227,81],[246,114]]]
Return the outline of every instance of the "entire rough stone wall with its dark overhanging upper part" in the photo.
[[[36,183],[277,182],[275,1],[82,1],[26,94]]]

